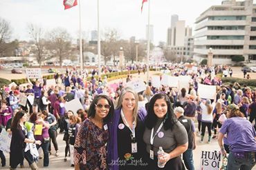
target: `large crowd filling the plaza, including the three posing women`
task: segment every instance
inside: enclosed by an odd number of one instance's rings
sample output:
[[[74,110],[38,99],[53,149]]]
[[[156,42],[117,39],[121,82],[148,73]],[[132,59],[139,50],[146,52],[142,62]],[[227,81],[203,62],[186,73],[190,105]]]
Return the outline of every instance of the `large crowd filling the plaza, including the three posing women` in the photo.
[[[70,161],[75,169],[193,170],[196,136],[205,143],[206,127],[207,143],[217,139],[223,156],[229,153],[228,169],[252,169],[256,92],[238,83],[222,85],[215,74],[223,70],[228,67],[165,70],[172,76],[190,76],[188,89],[153,87],[149,81],[145,91],[135,92],[122,82],[113,88],[107,77],[97,80],[94,74],[85,81],[88,73],[76,70],[56,76],[57,85],[28,79],[26,87],[3,86],[0,130],[12,135],[10,169],[24,167],[24,158],[31,169],[38,169],[40,158],[44,167],[51,167],[51,143],[55,156],[60,156],[56,138],[63,134],[63,161]],[[198,95],[199,83],[216,85],[214,100]],[[20,95],[34,96],[33,103],[27,100],[20,105]],[[75,98],[83,106],[76,113],[65,109],[65,103]],[[40,147],[43,154],[37,150]],[[163,153],[158,154],[160,148]],[[0,158],[5,167],[3,151]]]

